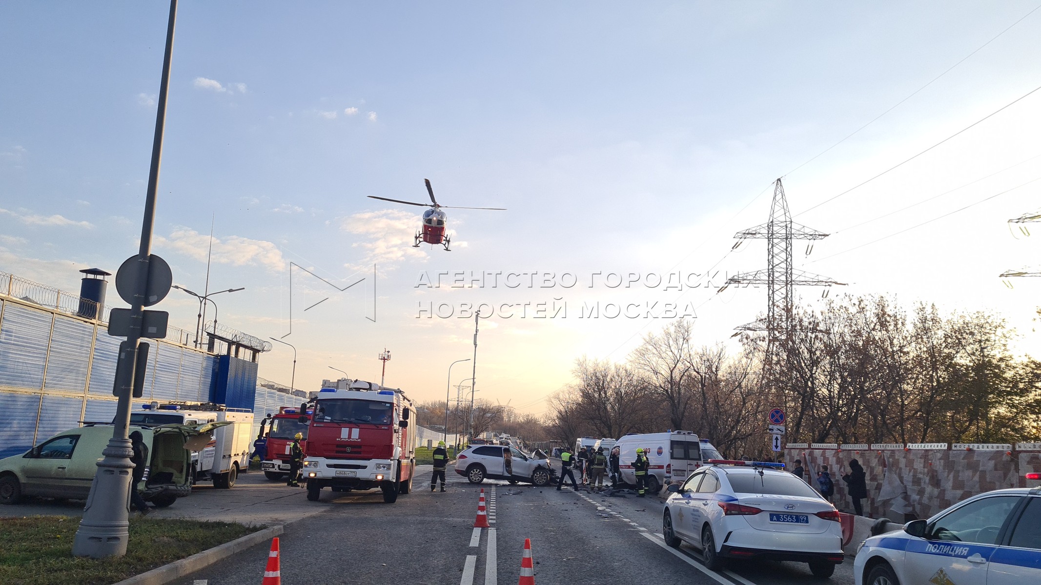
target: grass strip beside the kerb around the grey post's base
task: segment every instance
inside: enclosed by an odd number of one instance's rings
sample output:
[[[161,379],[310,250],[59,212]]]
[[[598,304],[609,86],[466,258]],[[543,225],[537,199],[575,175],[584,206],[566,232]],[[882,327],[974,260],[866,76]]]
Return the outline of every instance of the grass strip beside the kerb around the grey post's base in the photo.
[[[131,517],[126,556],[107,559],[72,556],[72,542],[78,528],[79,518],[70,516],[0,518],[0,583],[117,583],[264,527],[227,522]],[[258,570],[263,570],[263,567]]]

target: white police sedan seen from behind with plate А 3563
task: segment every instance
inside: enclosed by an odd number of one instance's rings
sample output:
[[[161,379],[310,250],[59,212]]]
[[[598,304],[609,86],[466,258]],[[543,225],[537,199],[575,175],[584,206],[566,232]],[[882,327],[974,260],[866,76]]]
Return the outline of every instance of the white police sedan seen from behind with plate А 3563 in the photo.
[[[712,459],[665,501],[662,534],[701,549],[706,566],[727,559],[806,562],[828,578],[843,560],[839,512],[784,463]]]

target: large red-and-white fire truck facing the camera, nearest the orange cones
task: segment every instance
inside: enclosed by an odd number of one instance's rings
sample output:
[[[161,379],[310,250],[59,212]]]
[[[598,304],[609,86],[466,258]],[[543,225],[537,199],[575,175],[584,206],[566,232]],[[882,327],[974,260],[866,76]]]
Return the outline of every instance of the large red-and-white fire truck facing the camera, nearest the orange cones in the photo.
[[[354,380],[348,390],[322,389],[301,408],[313,411],[303,469],[308,500],[318,500],[323,487],[379,487],[389,504],[412,490],[415,435],[409,419],[414,408],[401,390]]]

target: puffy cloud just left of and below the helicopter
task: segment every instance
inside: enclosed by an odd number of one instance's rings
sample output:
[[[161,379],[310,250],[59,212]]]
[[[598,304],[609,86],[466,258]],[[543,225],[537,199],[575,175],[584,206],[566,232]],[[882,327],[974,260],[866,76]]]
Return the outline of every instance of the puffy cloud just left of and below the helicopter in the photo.
[[[365,251],[362,263],[349,267],[359,268],[375,263],[385,270],[405,260],[427,258],[423,248],[412,247],[412,236],[418,224],[418,215],[397,209],[365,211],[341,219],[340,231],[364,239],[351,244]]]

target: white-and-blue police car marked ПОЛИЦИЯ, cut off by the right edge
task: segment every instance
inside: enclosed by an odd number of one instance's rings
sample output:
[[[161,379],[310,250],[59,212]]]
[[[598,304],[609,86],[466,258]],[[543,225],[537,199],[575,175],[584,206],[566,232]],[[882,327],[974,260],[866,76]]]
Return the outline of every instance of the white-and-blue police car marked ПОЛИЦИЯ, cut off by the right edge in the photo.
[[[981,494],[872,536],[854,576],[857,585],[1041,583],[1041,487]]]

